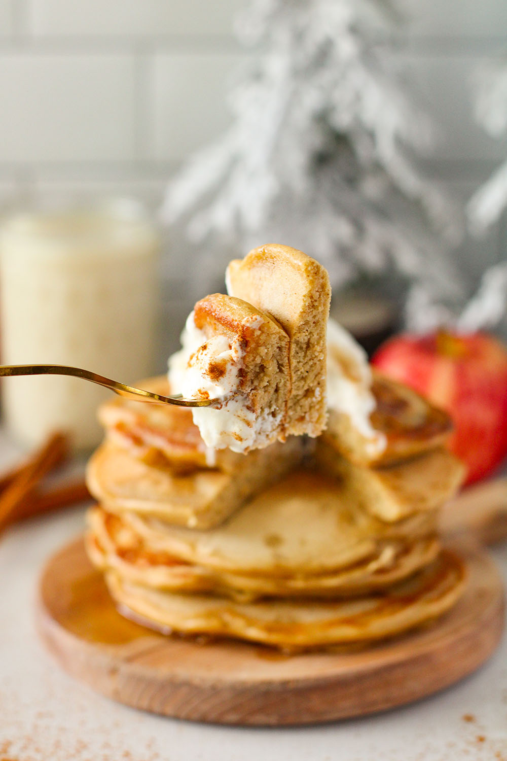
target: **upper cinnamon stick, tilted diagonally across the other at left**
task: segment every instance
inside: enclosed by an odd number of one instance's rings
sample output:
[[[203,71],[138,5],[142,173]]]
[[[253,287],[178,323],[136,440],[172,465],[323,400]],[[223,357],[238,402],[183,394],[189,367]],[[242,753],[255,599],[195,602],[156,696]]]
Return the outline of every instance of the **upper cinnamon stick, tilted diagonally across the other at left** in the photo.
[[[68,437],[56,432],[32,457],[21,466],[8,486],[0,492],[0,532],[15,519],[22,502],[36,489],[37,484],[52,468],[62,464],[68,456]],[[8,476],[7,476],[8,478]]]

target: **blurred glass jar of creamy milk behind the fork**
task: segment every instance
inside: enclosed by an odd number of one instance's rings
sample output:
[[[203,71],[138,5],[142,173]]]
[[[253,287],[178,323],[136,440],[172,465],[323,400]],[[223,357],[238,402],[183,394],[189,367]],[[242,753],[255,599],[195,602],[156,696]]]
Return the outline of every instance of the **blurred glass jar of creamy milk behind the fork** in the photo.
[[[14,216],[0,228],[3,365],[74,365],[122,383],[153,372],[159,240],[137,202]],[[4,422],[23,444],[56,428],[100,441],[108,392],[72,377],[2,382]]]

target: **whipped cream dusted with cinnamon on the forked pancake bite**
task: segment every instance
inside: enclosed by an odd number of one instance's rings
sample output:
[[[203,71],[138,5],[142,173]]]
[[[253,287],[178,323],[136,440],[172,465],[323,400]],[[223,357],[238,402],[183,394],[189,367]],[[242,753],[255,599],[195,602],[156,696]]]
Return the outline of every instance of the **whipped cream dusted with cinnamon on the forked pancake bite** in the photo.
[[[261,317],[249,320],[252,327],[262,323]],[[207,459],[213,461],[213,451],[228,447],[233,452],[246,452],[262,447],[272,439],[273,428],[280,424],[269,411],[256,415],[249,399],[240,388],[239,371],[244,367],[241,342],[226,336],[207,338],[195,325],[192,311],[181,335],[182,349],[169,360],[171,388],[186,398],[217,399],[210,407],[192,408]]]

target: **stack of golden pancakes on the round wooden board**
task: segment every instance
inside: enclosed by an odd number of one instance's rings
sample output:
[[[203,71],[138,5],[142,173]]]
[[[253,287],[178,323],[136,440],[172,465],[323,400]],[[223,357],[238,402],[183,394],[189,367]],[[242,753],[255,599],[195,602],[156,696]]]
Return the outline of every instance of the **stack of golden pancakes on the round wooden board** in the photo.
[[[234,278],[246,298],[254,279]],[[296,333],[281,307],[267,308],[268,286],[262,298],[257,308],[277,313],[294,353]],[[298,351],[322,361],[325,325],[309,320],[305,331]],[[303,376],[294,374],[298,393],[315,412],[324,397],[308,401]],[[166,377],[141,387],[171,393]],[[329,409],[321,435],[315,427],[315,438],[288,435],[247,454],[209,451],[189,409],[103,405],[86,543],[120,612],[166,633],[290,650],[372,642],[452,607],[465,569],[436,535],[437,512],[463,476],[445,449],[450,421],[394,381],[374,375],[368,391],[375,445],[347,411]],[[322,430],[321,412],[314,418]]]

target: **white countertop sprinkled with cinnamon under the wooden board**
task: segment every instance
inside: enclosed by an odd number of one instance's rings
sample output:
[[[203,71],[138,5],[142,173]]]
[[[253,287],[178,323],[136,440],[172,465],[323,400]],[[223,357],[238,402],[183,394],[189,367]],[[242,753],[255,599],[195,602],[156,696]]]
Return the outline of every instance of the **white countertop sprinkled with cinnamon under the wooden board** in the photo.
[[[15,455],[0,438],[0,472]],[[82,526],[83,509],[74,508],[0,539],[0,761],[507,761],[507,636],[444,693],[312,728],[191,724],[93,693],[52,661],[33,624],[40,569]],[[507,579],[507,545],[493,556]]]

